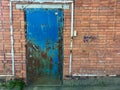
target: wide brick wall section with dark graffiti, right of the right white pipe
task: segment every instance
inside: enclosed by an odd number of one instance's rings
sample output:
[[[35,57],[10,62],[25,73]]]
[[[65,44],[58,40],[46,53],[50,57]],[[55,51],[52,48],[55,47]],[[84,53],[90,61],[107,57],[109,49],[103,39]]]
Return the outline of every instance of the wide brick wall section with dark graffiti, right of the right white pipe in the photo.
[[[76,0],[74,74],[120,74],[119,17],[119,0]]]

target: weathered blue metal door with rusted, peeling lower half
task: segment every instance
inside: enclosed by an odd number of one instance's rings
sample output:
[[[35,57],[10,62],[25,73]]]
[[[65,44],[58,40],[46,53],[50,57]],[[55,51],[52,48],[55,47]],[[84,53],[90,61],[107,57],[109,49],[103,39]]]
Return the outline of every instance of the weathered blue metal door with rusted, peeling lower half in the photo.
[[[63,10],[26,9],[27,79],[60,84],[63,60]]]

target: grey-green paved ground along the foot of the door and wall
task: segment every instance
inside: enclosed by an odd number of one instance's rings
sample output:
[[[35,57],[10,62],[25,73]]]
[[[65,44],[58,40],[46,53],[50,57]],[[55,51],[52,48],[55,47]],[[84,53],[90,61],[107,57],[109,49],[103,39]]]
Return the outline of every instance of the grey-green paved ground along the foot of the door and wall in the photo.
[[[24,90],[120,90],[120,77],[74,78],[62,86],[27,86]]]

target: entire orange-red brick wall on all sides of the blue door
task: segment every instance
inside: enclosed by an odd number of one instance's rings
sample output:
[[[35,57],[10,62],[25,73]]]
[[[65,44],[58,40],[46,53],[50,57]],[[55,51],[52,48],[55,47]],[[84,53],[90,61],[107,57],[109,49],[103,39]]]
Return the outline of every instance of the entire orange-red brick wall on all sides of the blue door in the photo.
[[[13,3],[16,76],[26,78],[24,11]],[[70,54],[70,10],[64,11],[64,76]],[[72,73],[120,74],[120,1],[75,0]],[[0,1],[0,74],[11,73],[9,2]],[[65,77],[64,77],[65,78]]]

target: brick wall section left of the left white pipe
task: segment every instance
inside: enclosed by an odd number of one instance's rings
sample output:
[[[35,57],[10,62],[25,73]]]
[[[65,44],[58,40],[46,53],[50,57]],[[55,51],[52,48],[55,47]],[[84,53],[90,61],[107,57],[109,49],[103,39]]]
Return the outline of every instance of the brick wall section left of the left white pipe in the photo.
[[[0,74],[11,74],[9,5],[0,1]]]

